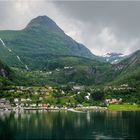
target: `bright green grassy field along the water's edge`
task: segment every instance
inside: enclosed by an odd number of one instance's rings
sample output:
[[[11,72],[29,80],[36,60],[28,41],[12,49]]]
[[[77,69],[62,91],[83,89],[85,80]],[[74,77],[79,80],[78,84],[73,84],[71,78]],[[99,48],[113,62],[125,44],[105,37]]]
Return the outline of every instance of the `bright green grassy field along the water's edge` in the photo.
[[[140,110],[140,105],[136,104],[112,104],[108,107],[109,110]]]

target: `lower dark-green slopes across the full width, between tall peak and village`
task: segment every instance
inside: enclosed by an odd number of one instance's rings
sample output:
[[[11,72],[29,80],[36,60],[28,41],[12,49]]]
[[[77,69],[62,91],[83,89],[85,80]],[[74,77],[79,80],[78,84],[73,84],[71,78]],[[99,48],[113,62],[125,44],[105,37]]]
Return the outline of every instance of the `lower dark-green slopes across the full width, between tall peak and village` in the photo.
[[[8,77],[17,85],[140,85],[140,51],[118,64],[99,62],[82,57],[54,56],[47,59],[42,70],[26,71],[1,62],[1,77]],[[3,73],[4,71],[4,73]]]

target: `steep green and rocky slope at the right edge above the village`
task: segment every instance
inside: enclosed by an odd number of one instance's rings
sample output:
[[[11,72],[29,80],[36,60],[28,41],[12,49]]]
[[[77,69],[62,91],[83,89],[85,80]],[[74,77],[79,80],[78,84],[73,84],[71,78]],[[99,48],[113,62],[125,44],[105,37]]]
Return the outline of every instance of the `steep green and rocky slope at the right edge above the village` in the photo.
[[[115,78],[115,83],[127,83],[133,87],[140,87],[140,50],[114,65],[114,69],[120,73]]]

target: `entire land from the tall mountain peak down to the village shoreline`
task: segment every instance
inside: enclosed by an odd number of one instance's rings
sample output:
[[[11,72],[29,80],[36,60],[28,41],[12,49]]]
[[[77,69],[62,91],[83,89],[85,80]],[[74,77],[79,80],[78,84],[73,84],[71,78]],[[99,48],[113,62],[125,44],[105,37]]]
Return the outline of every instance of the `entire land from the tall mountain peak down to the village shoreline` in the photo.
[[[0,31],[0,100],[10,107],[139,109],[140,51],[109,55],[106,62],[108,56],[92,54],[47,16],[23,30]]]

